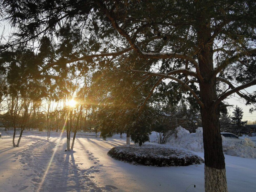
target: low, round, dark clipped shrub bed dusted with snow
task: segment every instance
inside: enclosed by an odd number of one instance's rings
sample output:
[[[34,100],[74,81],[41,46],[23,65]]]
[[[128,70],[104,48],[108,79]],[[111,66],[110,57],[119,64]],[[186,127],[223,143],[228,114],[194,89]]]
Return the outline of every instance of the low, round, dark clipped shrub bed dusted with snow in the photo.
[[[109,152],[112,158],[140,165],[163,166],[187,166],[201,164],[204,160],[192,152],[179,148],[144,144],[120,145],[113,147]]]

